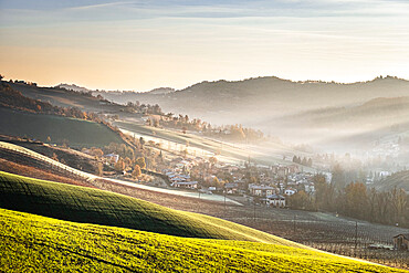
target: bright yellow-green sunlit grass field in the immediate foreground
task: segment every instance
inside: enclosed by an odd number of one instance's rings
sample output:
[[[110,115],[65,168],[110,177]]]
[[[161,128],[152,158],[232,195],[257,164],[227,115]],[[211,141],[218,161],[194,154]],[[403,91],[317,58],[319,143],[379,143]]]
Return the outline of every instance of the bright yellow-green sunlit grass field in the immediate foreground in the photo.
[[[276,244],[187,239],[0,209],[0,271],[403,272]]]

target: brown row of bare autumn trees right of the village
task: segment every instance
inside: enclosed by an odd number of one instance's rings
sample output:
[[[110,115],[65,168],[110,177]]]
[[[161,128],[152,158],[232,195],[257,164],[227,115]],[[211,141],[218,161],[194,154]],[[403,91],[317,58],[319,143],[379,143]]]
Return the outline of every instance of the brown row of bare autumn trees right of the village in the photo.
[[[314,177],[315,193],[304,191],[290,197],[294,209],[336,212],[370,222],[409,227],[409,195],[403,189],[377,191],[363,182],[350,182],[337,189],[334,182],[327,183],[325,177]]]

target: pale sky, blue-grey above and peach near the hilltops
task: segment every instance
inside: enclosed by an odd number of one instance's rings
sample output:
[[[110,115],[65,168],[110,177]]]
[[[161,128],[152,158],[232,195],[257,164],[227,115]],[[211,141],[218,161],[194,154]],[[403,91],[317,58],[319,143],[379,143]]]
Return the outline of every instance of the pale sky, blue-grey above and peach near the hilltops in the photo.
[[[0,0],[0,73],[127,91],[409,78],[409,1]]]

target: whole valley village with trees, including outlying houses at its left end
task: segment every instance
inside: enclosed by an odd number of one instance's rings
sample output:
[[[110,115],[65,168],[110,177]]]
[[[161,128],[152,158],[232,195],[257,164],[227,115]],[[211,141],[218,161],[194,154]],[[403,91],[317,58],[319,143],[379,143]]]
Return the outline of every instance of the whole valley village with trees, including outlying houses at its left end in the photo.
[[[120,160],[117,154],[104,155],[105,165],[115,167]],[[164,167],[165,168],[160,168]],[[151,186],[196,191],[203,195],[229,196],[247,203],[272,208],[286,208],[289,198],[298,191],[313,196],[315,174],[303,171],[296,164],[255,166],[250,162],[233,165],[219,161],[216,156],[176,156],[164,159],[155,170],[141,167],[137,181],[150,182]],[[160,168],[160,169],[159,169]],[[116,178],[132,179],[133,168],[124,168]],[[143,179],[147,174],[149,179]],[[158,180],[165,182],[159,183]]]

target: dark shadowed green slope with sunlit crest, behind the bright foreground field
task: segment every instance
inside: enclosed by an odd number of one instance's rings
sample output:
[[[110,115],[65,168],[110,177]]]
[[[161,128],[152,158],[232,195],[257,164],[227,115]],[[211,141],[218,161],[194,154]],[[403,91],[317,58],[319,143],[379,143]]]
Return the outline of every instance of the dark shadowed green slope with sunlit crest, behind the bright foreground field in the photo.
[[[0,208],[162,234],[302,245],[218,218],[135,198],[0,171]]]

